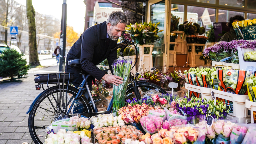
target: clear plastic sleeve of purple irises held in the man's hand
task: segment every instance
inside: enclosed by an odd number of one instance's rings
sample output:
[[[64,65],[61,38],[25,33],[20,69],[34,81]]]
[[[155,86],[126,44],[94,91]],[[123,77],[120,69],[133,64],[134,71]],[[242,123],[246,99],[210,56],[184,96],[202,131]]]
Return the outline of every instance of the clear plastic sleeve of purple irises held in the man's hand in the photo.
[[[123,60],[117,59],[112,64],[114,75],[123,78],[122,84],[119,84],[119,86],[114,85],[113,87],[113,113],[116,113],[117,116],[117,110],[125,104],[126,89],[129,81],[131,65],[132,58]]]

